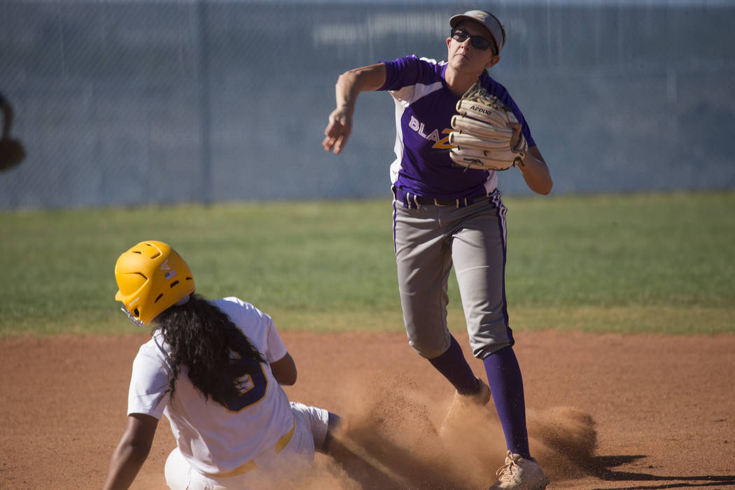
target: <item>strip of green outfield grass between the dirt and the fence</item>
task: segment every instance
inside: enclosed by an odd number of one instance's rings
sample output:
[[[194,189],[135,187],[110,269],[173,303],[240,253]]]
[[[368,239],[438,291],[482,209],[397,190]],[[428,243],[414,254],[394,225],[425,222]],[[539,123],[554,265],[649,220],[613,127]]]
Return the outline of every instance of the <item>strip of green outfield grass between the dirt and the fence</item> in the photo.
[[[735,193],[506,198],[512,327],[735,331]],[[389,202],[0,212],[0,336],[126,333],[118,255],[171,243],[282,329],[401,331]],[[463,327],[456,282],[452,328]]]

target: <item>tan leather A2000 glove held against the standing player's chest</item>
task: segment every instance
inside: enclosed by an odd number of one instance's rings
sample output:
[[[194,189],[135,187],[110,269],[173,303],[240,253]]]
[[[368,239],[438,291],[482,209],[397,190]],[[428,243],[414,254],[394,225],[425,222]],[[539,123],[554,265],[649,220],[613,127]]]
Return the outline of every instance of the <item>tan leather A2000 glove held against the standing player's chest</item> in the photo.
[[[449,156],[456,165],[506,170],[526,158],[528,143],[513,112],[479,83],[465,92],[456,109],[449,134],[454,147]]]

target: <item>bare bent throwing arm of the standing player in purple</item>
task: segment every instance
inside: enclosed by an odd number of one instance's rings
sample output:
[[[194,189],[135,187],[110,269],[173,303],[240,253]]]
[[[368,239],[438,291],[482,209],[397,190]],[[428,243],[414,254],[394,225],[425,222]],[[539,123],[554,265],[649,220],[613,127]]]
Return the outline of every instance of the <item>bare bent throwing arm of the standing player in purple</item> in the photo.
[[[361,92],[378,90],[383,84],[385,84],[383,63],[354,68],[340,75],[334,87],[337,108],[329,115],[329,123],[324,130],[322,146],[326,151],[334,151],[335,155],[340,154],[352,132],[352,116],[357,96]]]

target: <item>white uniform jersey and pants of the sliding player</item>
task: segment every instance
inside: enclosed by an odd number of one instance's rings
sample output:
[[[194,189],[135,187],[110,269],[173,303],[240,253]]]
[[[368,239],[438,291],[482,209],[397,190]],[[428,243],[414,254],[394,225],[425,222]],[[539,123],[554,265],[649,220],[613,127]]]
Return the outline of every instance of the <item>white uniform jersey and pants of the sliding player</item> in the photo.
[[[229,315],[268,363],[286,355],[286,346],[268,314],[238,298],[212,303]],[[198,476],[215,481],[241,479],[254,469],[273,469],[279,466],[279,460],[293,464],[287,462],[287,455],[298,454],[313,460],[315,434],[321,440],[326,436],[329,413],[290,403],[269,364],[259,363],[257,375],[233,380],[244,388],[241,396],[226,408],[214,400],[205,400],[189,380],[184,366],[172,397],[167,392],[171,379],[169,353],[159,332],[140,347],[133,361],[128,414],[146,414],[157,419],[165,415],[176,439],[174,451]],[[167,463],[167,479],[168,466]]]

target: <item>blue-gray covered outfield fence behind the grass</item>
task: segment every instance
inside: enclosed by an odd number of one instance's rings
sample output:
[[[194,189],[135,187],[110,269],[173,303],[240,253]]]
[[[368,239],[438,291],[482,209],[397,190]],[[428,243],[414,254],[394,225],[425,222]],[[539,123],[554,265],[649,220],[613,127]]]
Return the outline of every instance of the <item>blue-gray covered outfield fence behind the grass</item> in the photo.
[[[735,187],[735,7],[498,1],[492,75],[554,192]],[[0,92],[28,157],[0,208],[390,198],[385,93],[340,156],[321,148],[334,82],[406,54],[443,60],[473,5],[401,1],[0,0]],[[520,173],[501,190],[529,192]]]

